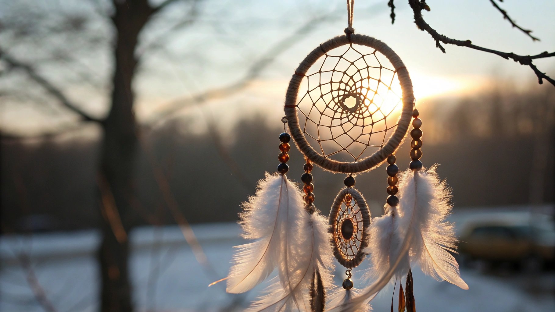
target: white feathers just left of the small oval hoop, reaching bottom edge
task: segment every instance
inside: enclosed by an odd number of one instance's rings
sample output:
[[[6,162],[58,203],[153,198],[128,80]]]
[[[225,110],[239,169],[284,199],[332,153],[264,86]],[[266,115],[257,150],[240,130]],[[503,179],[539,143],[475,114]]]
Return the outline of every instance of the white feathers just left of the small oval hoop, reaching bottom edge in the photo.
[[[299,231],[290,232],[284,241],[278,280],[246,312],[310,311],[309,287],[314,271],[319,270],[324,285],[331,284],[330,269],[334,264],[326,219],[317,211],[303,213],[305,217],[297,222]]]

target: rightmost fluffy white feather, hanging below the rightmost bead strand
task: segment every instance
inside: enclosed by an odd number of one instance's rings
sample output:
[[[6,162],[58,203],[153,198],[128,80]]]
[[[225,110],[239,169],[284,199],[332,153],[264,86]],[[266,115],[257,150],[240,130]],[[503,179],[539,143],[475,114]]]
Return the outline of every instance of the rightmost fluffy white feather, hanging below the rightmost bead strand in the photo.
[[[410,238],[411,263],[419,264],[424,273],[437,280],[468,289],[450,253],[455,252],[457,242],[453,225],[445,222],[451,211],[451,192],[438,178],[436,168],[401,173],[398,229]]]

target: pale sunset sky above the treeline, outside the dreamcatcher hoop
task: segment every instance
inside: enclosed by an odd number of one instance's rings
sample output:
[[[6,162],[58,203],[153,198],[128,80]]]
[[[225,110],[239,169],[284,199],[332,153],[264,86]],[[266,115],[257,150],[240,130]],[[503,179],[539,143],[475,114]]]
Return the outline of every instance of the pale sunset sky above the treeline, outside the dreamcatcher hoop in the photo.
[[[7,3],[6,0],[0,0],[0,6],[10,8],[0,13],[0,19],[7,18],[9,12],[16,12],[22,19],[31,18],[26,13],[11,10],[13,4],[7,6]],[[87,2],[45,0],[22,3],[54,13],[88,12],[91,9],[85,4]],[[357,33],[386,42],[400,55],[411,75],[413,89],[420,103],[425,104],[427,100],[438,96],[455,98],[461,94],[476,93],[487,88],[493,80],[511,80],[518,89],[530,88],[537,83],[530,68],[497,55],[449,45],[444,45],[447,53],[441,53],[430,35],[416,28],[406,1],[396,1],[395,4],[396,20],[392,25],[387,1],[355,2],[353,26]],[[488,1],[428,1],[428,4],[431,12],[423,12],[427,23],[448,37],[470,39],[483,47],[519,54],[537,54],[545,50],[552,52],[555,49],[554,1],[508,0],[499,3],[519,25],[532,29],[532,34],[541,39],[539,42],[532,42],[525,34],[512,28]],[[168,7],[167,12],[152,21],[152,25],[140,38],[141,42],[155,42],[163,38],[168,25],[179,21],[186,9],[188,7],[179,3]],[[342,34],[347,26],[345,2],[339,0],[205,1],[200,2],[199,12],[198,21],[191,27],[175,32],[163,41],[163,49],[145,53],[135,81],[139,120],[153,119],[168,103],[175,100],[188,99],[203,91],[239,81],[254,60],[258,60],[268,50],[275,49],[276,43],[305,25],[307,34],[297,38],[299,40],[291,47],[284,48],[284,52],[248,88],[208,101],[202,107],[180,110],[174,115],[185,117],[193,124],[189,126],[197,131],[203,131],[205,122],[199,116],[206,114],[213,115],[222,127],[233,124],[234,120],[245,114],[262,114],[275,123],[275,119],[282,116],[287,83],[297,64],[318,44]],[[319,16],[327,18],[312,28],[306,25],[312,18]],[[99,29],[98,33],[102,34],[105,42],[109,42],[110,29],[100,25],[103,21],[89,23],[98,24],[95,26]],[[70,48],[64,40],[55,41],[56,34],[46,37],[60,49]],[[36,61],[43,52],[31,46],[26,49],[24,44],[12,48],[9,43],[6,35],[0,35],[0,44],[9,47],[8,51],[12,54],[17,52],[23,60]],[[44,42],[43,46],[47,44]],[[70,98],[87,111],[102,116],[107,111],[109,99],[109,88],[105,86],[112,68],[109,51],[100,49],[98,53],[87,54],[79,60],[87,64],[87,70],[104,88],[90,88],[77,79],[64,84],[59,77],[73,74],[75,70],[72,64],[65,63],[61,67],[39,66],[46,76],[61,81],[62,88]],[[555,76],[555,58],[534,63],[542,71]],[[0,89],[26,81],[21,73],[16,75],[16,78],[12,78],[14,74],[8,73],[0,79]],[[4,104],[0,105],[2,130],[24,135],[37,134],[75,122],[73,114],[55,108],[56,103],[52,98],[41,97],[39,86],[28,84],[29,92],[37,92],[35,98],[41,100],[5,98]],[[544,83],[542,88],[553,86]],[[54,109],[45,112],[39,105]]]

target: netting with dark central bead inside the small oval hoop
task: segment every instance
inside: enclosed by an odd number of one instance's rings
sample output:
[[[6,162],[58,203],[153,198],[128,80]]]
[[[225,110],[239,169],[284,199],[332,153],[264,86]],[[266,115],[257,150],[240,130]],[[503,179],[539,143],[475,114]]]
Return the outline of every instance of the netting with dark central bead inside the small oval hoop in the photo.
[[[359,252],[364,224],[359,205],[350,194],[343,198],[336,221],[334,238],[337,250],[344,259],[352,260]]]

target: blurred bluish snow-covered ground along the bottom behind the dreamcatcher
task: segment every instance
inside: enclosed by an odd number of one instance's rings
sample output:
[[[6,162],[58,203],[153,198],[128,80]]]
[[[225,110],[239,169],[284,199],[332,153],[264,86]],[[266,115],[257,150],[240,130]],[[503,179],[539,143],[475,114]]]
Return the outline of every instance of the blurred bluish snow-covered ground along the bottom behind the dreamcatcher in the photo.
[[[225,293],[225,277],[233,245],[242,243],[235,224],[203,224],[193,230],[208,263],[199,264],[177,227],[145,227],[130,233],[133,244],[131,270],[133,300],[140,311],[239,311],[256,297],[259,286],[247,294]],[[95,231],[3,237],[0,241],[0,311],[43,311],[29,287],[29,270],[17,260],[31,258],[32,268],[46,296],[59,312],[96,311],[98,269]],[[361,266],[367,267],[367,262]],[[337,272],[336,283],[344,275]],[[362,288],[362,273],[354,273],[355,287]],[[553,273],[535,276],[510,273],[485,275],[462,269],[469,290],[436,282],[414,272],[419,311],[555,311]],[[398,286],[397,286],[398,287]],[[392,285],[372,301],[374,311],[389,311]]]

